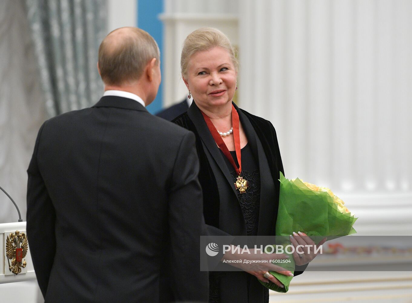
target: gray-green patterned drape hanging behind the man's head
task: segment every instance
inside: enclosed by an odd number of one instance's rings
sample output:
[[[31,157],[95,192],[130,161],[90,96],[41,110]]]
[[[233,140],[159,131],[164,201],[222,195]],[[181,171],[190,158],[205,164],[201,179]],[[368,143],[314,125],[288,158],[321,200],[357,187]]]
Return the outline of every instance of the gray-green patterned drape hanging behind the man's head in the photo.
[[[89,107],[103,94],[96,63],[107,0],[25,0],[47,115]]]

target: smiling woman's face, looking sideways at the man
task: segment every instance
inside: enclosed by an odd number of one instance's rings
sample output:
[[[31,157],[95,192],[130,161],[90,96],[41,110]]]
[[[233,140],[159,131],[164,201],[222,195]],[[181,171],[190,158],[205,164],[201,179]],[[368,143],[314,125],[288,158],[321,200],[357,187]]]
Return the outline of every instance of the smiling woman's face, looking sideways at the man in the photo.
[[[229,52],[222,47],[194,53],[183,78],[200,108],[231,102],[236,90],[236,70]]]

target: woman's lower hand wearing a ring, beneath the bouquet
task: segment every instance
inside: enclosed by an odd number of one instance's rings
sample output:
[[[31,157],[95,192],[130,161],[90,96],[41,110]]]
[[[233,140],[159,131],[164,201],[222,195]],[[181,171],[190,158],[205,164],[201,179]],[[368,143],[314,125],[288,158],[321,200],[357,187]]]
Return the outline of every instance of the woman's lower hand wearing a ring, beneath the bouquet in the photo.
[[[230,250],[225,253],[222,260],[231,260],[231,261],[242,261],[241,263],[237,262],[230,262],[229,264],[241,268],[242,270],[254,275],[258,278],[258,280],[268,283],[273,282],[279,287],[284,287],[283,284],[276,279],[274,276],[270,275],[269,277],[265,278],[263,275],[268,271],[275,271],[279,272],[282,275],[291,276],[293,277],[293,273],[290,270],[286,270],[285,268],[280,267],[279,265],[275,265],[274,263],[270,262],[272,260],[288,260],[289,256],[285,254],[266,254],[262,252],[260,249],[251,249],[250,254],[239,254],[237,252],[232,253]],[[245,262],[246,261],[246,262]],[[260,261],[259,263],[256,261]]]

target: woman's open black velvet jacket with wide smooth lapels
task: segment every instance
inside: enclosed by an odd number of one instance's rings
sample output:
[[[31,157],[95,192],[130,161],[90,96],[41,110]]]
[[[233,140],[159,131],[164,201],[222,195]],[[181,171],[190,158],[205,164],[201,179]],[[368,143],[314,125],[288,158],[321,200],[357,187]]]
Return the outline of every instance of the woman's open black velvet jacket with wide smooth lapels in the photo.
[[[239,113],[248,144],[259,162],[261,193],[258,235],[275,235],[279,206],[279,171],[283,173],[276,132],[269,121],[251,115],[235,104],[234,107]],[[208,235],[246,236],[246,223],[232,176],[196,103],[193,102],[187,113],[180,115],[173,122],[196,135],[196,148],[200,160],[199,181],[203,190],[203,211]],[[300,274],[305,267],[297,268],[300,272],[295,272],[295,275]],[[212,279],[217,276],[213,272],[210,272],[210,275]],[[221,302],[264,301],[265,288],[253,278],[248,291],[247,275],[249,274],[246,272],[219,274]]]

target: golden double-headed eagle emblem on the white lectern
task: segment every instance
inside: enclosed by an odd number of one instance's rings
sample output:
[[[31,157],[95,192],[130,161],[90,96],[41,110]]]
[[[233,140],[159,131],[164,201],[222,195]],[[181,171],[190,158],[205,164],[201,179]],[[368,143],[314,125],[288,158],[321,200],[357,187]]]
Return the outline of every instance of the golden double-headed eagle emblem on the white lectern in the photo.
[[[10,233],[6,239],[6,256],[9,262],[9,270],[15,275],[21,272],[21,268],[26,267],[26,260],[23,258],[27,254],[28,241],[25,233],[16,230]],[[10,263],[11,260],[11,263]]]

